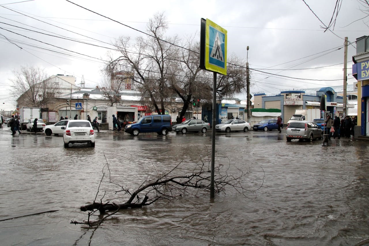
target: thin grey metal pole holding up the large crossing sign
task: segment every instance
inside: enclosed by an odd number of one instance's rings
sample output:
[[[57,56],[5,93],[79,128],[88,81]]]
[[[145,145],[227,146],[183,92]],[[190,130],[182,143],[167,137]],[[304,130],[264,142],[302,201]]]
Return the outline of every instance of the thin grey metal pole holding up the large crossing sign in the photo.
[[[213,73],[213,124],[211,125],[211,171],[210,171],[210,198],[214,198],[214,167],[215,167],[215,124],[217,106],[217,73]]]

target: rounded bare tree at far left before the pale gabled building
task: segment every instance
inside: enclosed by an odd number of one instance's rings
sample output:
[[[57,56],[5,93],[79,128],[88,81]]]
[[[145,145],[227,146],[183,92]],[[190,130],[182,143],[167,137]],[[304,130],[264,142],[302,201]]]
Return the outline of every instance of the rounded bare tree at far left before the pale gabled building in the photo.
[[[45,107],[54,101],[59,88],[44,72],[44,69],[34,66],[21,66],[20,71],[13,71],[15,76],[11,81],[11,93],[17,97],[18,105],[28,107]]]

